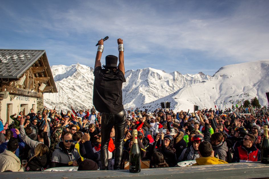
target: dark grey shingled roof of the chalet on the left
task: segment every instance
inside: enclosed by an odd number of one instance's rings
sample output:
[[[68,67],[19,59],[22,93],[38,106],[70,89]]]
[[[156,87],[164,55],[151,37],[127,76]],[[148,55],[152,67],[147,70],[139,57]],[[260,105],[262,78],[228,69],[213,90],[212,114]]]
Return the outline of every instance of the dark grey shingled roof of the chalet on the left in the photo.
[[[48,76],[52,78],[53,92],[58,92],[45,50],[0,49],[0,80],[18,80],[42,55]]]

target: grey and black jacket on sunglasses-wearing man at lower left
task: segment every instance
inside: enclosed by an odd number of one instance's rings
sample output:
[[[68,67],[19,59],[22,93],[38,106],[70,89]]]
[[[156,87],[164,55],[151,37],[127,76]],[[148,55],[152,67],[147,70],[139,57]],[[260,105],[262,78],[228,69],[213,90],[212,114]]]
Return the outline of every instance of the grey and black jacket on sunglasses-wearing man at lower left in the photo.
[[[71,145],[68,150],[64,147],[63,141],[60,141],[52,153],[51,168],[69,166],[68,163],[71,161],[77,161],[78,164],[81,162],[79,152],[75,148],[75,145]]]

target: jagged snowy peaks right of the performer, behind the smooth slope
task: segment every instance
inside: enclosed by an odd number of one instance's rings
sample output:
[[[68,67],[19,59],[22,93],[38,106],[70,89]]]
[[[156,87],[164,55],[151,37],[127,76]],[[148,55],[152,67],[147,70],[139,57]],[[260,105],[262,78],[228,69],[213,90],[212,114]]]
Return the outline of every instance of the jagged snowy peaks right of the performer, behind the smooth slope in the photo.
[[[200,83],[211,78],[202,72],[182,75],[180,72],[166,73],[162,70],[145,68],[128,70],[123,84],[124,107],[137,107],[165,97],[186,85]]]

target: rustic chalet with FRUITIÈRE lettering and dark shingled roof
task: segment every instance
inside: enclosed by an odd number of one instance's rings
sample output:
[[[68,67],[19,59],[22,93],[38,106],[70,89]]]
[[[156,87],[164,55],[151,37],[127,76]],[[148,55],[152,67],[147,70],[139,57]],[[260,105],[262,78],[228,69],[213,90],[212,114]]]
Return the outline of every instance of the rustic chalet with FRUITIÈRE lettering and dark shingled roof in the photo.
[[[0,49],[0,117],[43,109],[43,93],[58,92],[45,50]]]

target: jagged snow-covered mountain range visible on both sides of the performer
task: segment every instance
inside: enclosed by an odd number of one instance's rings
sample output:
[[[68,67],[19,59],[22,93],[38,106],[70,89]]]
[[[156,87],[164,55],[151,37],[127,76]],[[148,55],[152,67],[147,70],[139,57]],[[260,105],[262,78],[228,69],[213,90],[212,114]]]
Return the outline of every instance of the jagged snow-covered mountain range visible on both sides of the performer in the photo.
[[[58,109],[88,109],[93,105],[93,68],[79,63],[71,66],[56,65],[51,67],[58,93],[45,93],[44,105]],[[165,97],[186,85],[207,81],[212,77],[202,72],[186,74],[175,71],[166,73],[162,70],[145,68],[128,70],[123,84],[123,104],[125,108],[141,106],[145,103]]]

